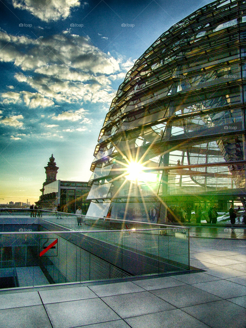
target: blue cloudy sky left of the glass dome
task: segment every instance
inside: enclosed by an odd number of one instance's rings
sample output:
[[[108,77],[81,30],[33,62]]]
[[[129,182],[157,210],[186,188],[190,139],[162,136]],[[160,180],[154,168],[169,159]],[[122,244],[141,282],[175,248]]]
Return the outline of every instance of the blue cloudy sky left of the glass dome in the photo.
[[[209,2],[0,1],[0,203],[38,200],[51,153],[57,179],[88,181],[134,61]]]

